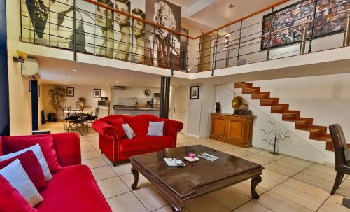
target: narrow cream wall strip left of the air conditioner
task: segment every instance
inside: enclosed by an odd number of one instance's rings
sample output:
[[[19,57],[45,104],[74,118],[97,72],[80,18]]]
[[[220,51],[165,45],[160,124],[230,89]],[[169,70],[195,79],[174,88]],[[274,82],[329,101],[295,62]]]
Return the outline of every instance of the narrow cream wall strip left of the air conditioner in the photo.
[[[16,8],[16,9],[13,9]],[[18,8],[18,9],[17,9]],[[10,96],[10,135],[31,134],[31,93],[13,54],[19,48],[20,1],[6,1],[8,90]]]

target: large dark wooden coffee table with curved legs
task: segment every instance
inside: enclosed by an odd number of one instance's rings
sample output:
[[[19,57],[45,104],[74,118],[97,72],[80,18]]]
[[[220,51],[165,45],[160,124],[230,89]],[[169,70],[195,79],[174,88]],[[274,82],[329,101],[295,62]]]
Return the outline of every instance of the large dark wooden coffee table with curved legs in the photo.
[[[188,153],[209,153],[219,157],[211,162],[200,158],[199,161],[189,163],[183,159]],[[186,167],[168,167],[164,157],[181,158]],[[137,155],[130,158],[132,174],[135,181],[132,189],[137,190],[139,172],[170,202],[173,211],[181,211],[189,199],[200,197],[209,192],[234,185],[251,178],[251,196],[258,199],[256,185],[262,181],[264,169],[240,157],[228,155],[207,146],[183,146],[169,148],[157,153]]]

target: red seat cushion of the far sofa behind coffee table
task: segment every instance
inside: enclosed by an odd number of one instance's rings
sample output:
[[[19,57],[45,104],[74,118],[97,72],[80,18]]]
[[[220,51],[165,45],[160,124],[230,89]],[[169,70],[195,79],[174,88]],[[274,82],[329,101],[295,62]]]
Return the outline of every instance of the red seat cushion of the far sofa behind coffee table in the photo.
[[[120,152],[170,148],[172,142],[173,139],[170,136],[136,136],[134,139],[123,139],[120,142]]]

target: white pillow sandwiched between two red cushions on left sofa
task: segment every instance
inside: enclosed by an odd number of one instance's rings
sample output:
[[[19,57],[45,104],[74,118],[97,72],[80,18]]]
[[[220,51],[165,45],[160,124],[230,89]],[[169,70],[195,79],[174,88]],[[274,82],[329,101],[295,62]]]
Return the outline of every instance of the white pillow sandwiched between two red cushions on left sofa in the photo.
[[[52,174],[50,172],[50,169],[48,168],[48,163],[46,162],[45,157],[43,156],[43,152],[41,151],[41,148],[40,148],[39,144],[36,144],[36,145],[31,146],[29,148],[25,148],[23,150],[15,152],[15,153],[2,155],[2,156],[0,156],[0,161],[4,161],[4,160],[8,160],[8,159],[10,159],[12,157],[16,157],[17,155],[25,153],[28,150],[32,150],[34,155],[38,158],[38,161],[39,161],[39,163],[41,165],[41,168],[43,169],[45,181],[50,181],[52,179]]]

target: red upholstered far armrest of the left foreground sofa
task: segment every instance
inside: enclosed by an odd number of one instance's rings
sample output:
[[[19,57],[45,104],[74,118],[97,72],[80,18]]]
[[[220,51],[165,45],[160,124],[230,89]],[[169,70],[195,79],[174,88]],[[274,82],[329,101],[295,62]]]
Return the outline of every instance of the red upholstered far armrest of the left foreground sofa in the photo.
[[[81,164],[80,137],[76,133],[52,134],[57,160],[62,167]]]

